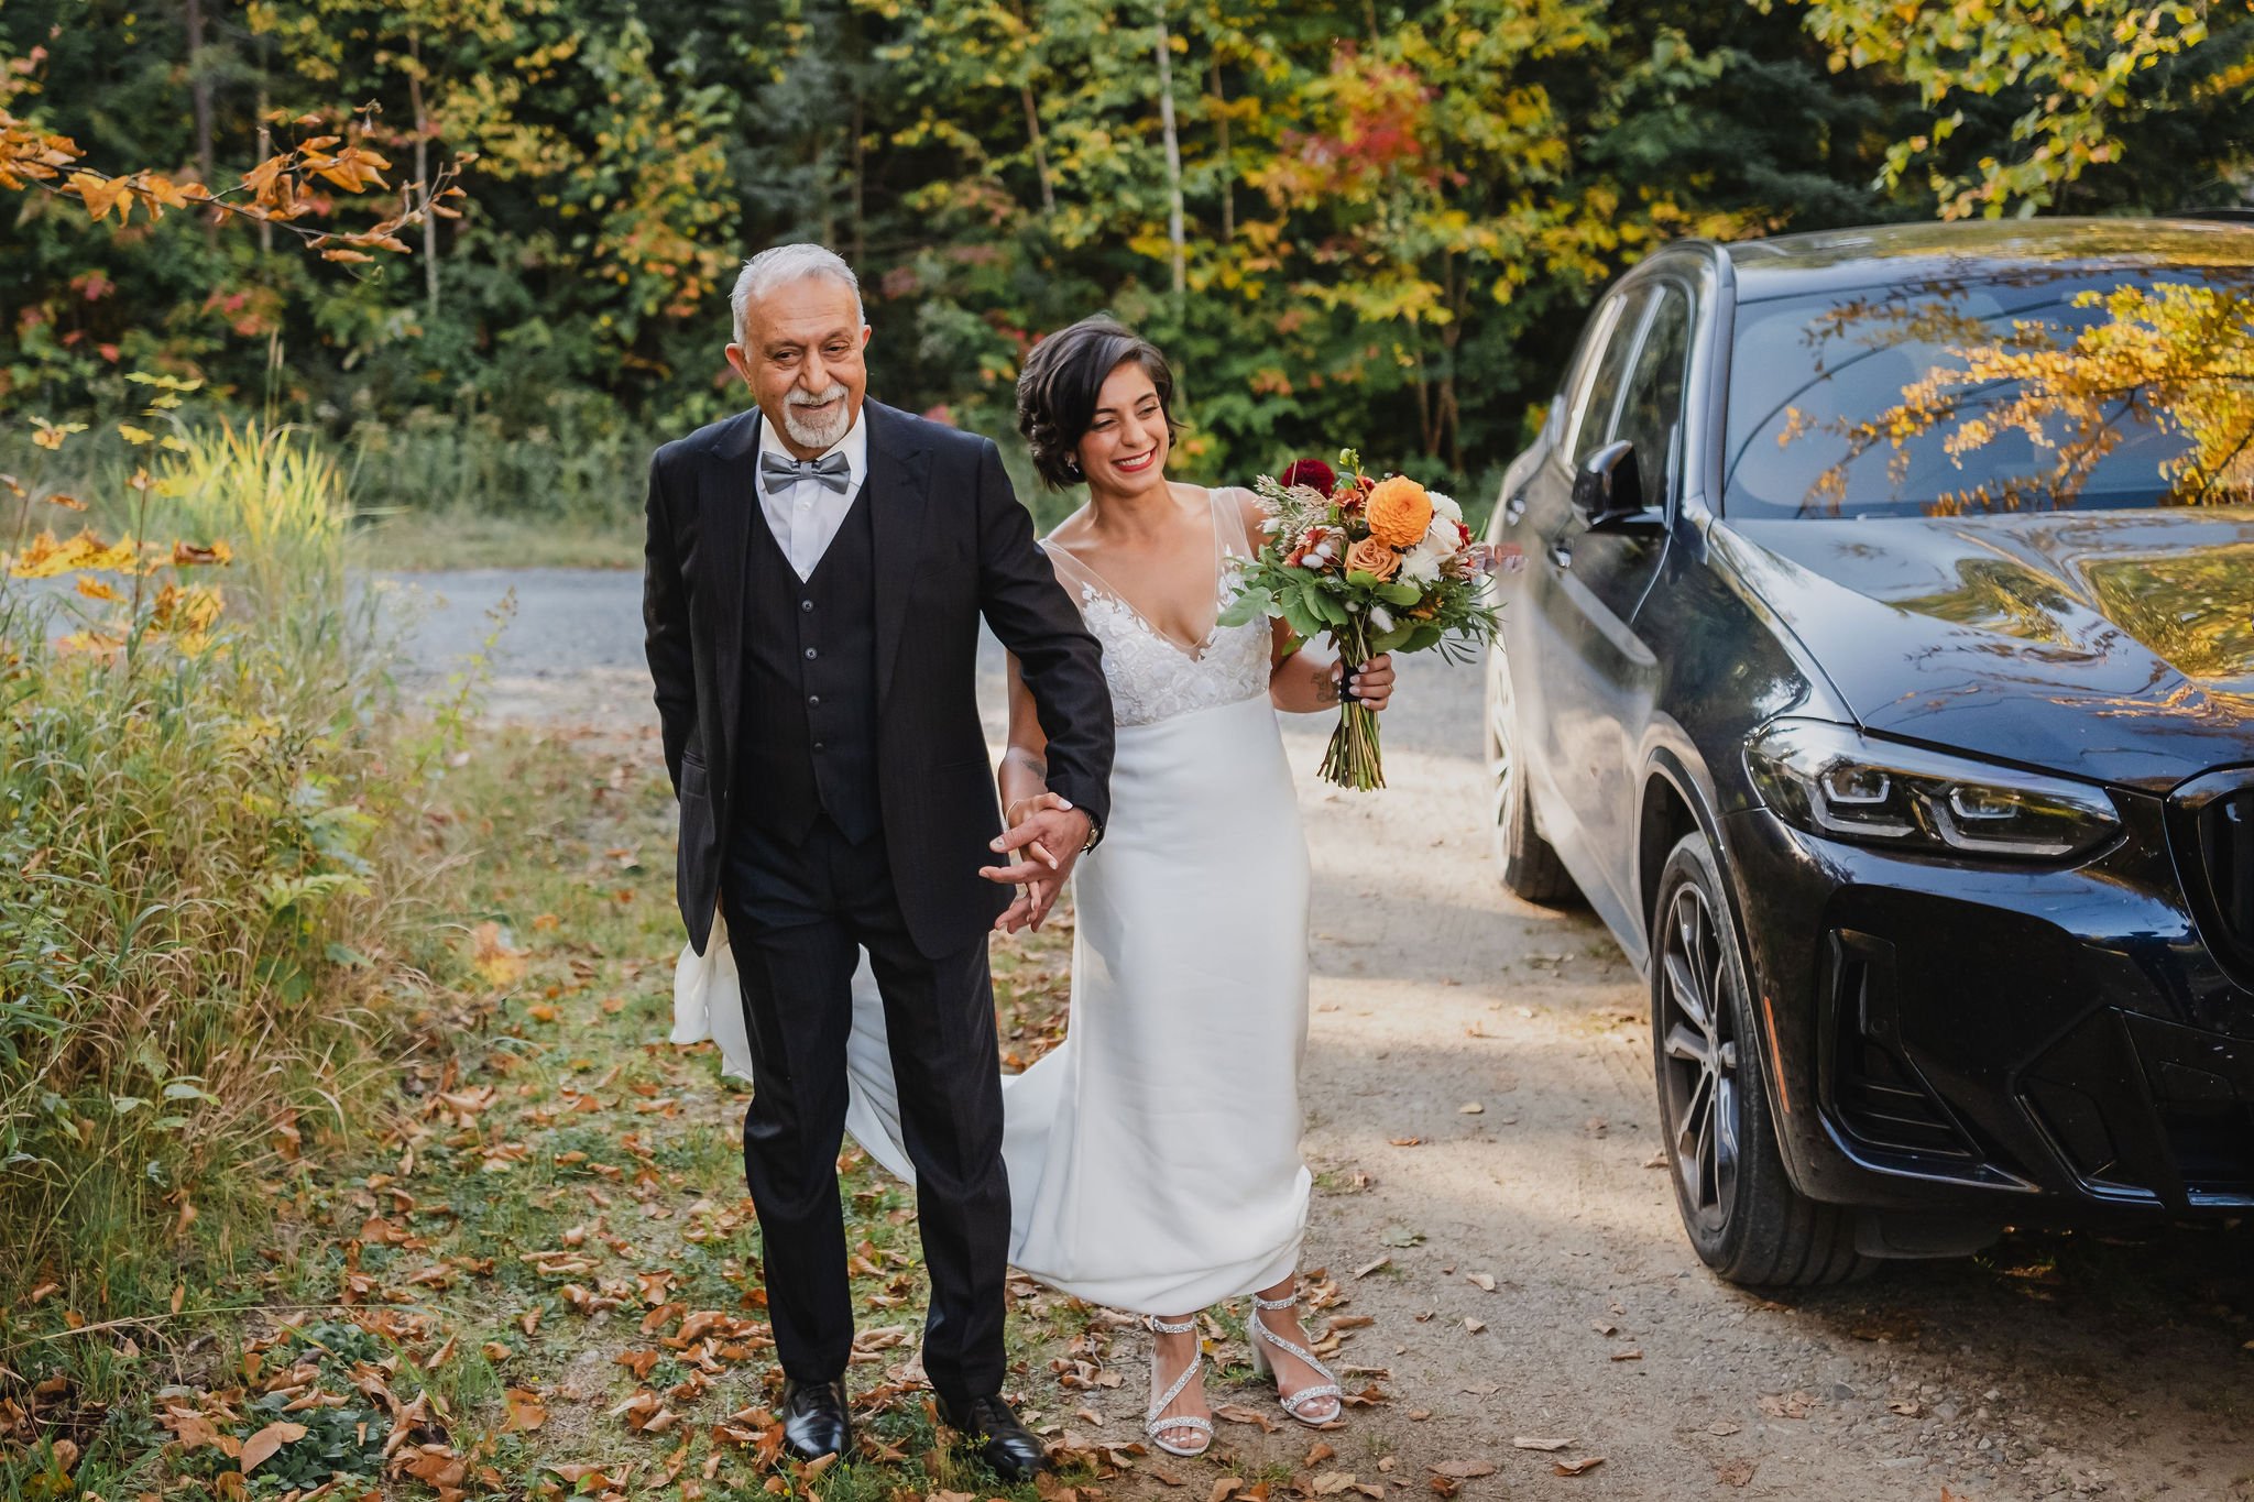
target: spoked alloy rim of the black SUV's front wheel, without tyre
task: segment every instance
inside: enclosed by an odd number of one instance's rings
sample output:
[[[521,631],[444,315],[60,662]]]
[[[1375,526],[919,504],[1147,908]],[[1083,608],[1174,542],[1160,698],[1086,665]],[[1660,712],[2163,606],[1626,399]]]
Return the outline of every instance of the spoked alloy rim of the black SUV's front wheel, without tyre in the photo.
[[[1729,1223],[1738,1189],[1738,1043],[1715,914],[1697,883],[1668,903],[1659,955],[1659,1047],[1668,1148],[1688,1218]]]

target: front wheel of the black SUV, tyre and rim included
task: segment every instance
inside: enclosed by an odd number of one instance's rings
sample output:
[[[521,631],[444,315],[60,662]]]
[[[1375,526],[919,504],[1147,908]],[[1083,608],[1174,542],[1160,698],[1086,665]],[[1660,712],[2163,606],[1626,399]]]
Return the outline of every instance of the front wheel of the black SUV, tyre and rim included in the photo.
[[[1855,1214],[1810,1200],[1785,1173],[1758,1038],[1722,869],[1690,831],[1652,901],[1652,1070],[1684,1230],[1733,1284],[1864,1277],[1873,1263],[1855,1250]]]

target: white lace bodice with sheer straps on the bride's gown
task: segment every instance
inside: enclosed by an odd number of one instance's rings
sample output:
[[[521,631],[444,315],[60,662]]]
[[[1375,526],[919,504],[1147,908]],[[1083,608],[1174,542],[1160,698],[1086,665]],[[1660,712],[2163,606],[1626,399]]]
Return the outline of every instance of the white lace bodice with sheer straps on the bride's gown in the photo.
[[[1244,563],[1244,527],[1235,513],[1235,491],[1213,491],[1215,610],[1235,594]],[[1154,725],[1177,714],[1235,705],[1267,694],[1269,624],[1215,624],[1192,653],[1152,626],[1141,610],[1116,594],[1100,574],[1055,543],[1044,543],[1057,576],[1080,601],[1089,633],[1104,649],[1104,680],[1111,685],[1111,716],[1118,725]]]

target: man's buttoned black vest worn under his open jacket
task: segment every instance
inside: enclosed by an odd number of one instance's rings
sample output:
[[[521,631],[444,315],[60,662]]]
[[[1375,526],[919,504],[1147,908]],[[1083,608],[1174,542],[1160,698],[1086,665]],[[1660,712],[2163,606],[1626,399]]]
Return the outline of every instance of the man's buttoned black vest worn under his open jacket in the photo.
[[[744,581],[737,817],[800,842],[816,811],[854,844],[877,833],[877,592],[868,486],[800,581],[762,511]]]

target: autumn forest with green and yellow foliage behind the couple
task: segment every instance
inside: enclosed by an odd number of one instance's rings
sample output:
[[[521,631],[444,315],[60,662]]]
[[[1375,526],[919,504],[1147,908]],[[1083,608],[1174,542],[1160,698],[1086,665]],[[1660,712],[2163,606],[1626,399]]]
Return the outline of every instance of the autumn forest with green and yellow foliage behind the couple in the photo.
[[[5,0],[7,108],[90,167],[225,185],[336,131],[467,198],[340,266],[23,194],[0,401],[201,378],[363,513],[624,543],[649,448],[742,405],[742,257],[814,239],[884,401],[1008,439],[1032,340],[1109,309],[1181,372],[1179,477],[1359,444],[1476,504],[1668,239],[2243,203],[2249,38],[2243,5],[1986,0]]]

